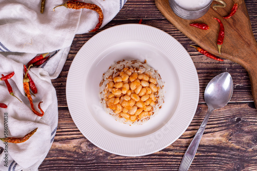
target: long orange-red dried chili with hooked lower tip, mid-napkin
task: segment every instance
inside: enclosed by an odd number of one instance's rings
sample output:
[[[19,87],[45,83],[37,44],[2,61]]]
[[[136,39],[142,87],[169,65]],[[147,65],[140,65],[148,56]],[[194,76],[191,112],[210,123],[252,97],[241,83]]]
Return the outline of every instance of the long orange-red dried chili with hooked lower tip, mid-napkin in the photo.
[[[29,66],[29,68],[31,67],[32,65]],[[29,92],[29,78],[27,77],[27,74],[28,74],[28,71],[29,71],[29,68],[23,78],[23,88],[24,88],[24,91],[25,93],[27,94],[27,97],[29,99],[29,103],[30,103],[30,106],[31,106],[31,109],[33,111],[34,114],[38,115],[38,116],[43,116],[44,115],[44,111],[41,109],[40,107],[40,103],[42,103],[43,101],[39,102],[39,105],[38,105],[38,108],[39,110],[41,111],[41,113],[39,113],[38,111],[36,111],[34,109],[34,104],[33,104],[33,100],[32,100],[32,97],[30,95],[30,92]]]

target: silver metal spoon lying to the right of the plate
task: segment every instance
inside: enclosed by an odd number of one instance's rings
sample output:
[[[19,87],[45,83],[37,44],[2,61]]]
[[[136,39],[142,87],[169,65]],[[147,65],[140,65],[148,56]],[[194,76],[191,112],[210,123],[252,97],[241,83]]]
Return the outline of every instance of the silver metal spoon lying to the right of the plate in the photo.
[[[212,111],[224,107],[231,99],[232,93],[233,81],[231,75],[228,72],[224,72],[215,76],[208,83],[205,89],[205,102],[208,105],[208,112],[192,142],[190,143],[185,155],[183,156],[178,169],[179,171],[187,171],[189,169]]]

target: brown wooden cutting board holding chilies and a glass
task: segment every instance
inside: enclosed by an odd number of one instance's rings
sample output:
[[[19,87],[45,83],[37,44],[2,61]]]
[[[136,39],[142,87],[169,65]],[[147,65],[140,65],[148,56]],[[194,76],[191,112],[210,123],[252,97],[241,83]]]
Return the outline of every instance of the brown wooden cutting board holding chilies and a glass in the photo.
[[[226,8],[212,8],[202,17],[193,20],[178,17],[171,9],[169,0],[155,0],[160,12],[183,34],[193,40],[199,47],[221,58],[229,59],[243,66],[250,77],[251,90],[255,107],[257,108],[257,42],[253,36],[250,19],[243,0],[226,0]],[[236,13],[229,19],[223,19],[238,4]],[[219,24],[213,17],[221,19],[225,28],[225,38],[221,55],[217,50]],[[209,30],[201,30],[189,26],[191,23],[205,23]]]

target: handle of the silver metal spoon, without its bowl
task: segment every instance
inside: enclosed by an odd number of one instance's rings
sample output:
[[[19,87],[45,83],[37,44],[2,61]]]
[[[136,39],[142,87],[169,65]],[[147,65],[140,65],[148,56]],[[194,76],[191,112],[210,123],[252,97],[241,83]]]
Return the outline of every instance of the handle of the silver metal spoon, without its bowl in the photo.
[[[211,108],[208,107],[208,112],[207,112],[207,114],[204,118],[204,121],[203,121],[203,123],[201,123],[197,133],[195,134],[195,136],[194,136],[192,142],[190,143],[185,155],[183,156],[178,171],[187,171],[189,169],[189,167],[190,167],[190,165],[191,165],[191,163],[194,159],[194,156],[196,154],[196,151],[197,151],[198,145],[200,143],[201,137],[204,134],[207,121],[208,121],[208,119],[209,119],[213,110],[214,110],[213,108],[211,109]]]

